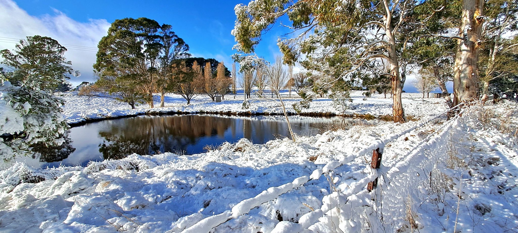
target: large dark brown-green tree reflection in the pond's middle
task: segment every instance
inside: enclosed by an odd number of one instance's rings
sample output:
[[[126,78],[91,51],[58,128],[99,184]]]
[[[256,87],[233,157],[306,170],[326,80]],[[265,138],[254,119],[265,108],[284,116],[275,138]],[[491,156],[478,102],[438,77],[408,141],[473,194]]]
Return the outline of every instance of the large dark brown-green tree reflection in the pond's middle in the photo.
[[[199,138],[213,135],[224,138],[232,121],[200,115],[127,118],[99,131],[104,138],[99,152],[104,159],[120,159],[132,153],[191,153],[188,147],[197,144]]]

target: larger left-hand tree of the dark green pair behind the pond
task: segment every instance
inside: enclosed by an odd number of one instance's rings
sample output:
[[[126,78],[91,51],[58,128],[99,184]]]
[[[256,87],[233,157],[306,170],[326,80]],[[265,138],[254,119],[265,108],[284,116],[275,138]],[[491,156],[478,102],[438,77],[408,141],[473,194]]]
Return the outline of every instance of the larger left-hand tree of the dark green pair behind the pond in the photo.
[[[154,107],[162,44],[161,26],[147,18],[125,18],[114,21],[98,47],[94,69],[99,76],[113,76],[145,95]]]

